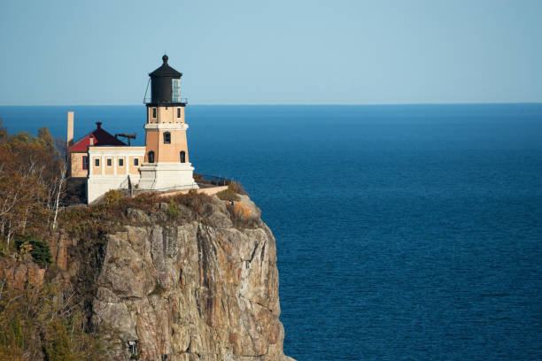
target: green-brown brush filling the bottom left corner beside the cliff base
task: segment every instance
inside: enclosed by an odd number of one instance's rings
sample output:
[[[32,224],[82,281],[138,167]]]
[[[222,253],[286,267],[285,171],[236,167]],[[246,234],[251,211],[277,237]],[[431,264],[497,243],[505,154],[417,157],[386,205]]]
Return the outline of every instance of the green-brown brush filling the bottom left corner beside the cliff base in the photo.
[[[18,291],[0,282],[0,360],[97,360],[104,347],[85,328],[72,288]]]

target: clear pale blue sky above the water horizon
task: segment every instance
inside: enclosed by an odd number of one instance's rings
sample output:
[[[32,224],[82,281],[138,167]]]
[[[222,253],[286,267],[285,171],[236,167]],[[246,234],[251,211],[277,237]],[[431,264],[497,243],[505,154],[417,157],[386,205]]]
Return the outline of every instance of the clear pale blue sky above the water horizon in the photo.
[[[542,0],[0,3],[0,104],[542,102]]]

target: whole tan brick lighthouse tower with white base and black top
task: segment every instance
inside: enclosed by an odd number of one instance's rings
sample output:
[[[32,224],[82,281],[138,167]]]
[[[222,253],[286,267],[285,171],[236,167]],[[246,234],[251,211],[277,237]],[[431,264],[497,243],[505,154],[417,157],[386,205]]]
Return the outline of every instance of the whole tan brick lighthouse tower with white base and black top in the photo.
[[[146,153],[140,167],[140,189],[197,188],[189,163],[184,121],[186,99],[181,98],[182,73],[164,63],[150,73],[151,98],[147,105]]]

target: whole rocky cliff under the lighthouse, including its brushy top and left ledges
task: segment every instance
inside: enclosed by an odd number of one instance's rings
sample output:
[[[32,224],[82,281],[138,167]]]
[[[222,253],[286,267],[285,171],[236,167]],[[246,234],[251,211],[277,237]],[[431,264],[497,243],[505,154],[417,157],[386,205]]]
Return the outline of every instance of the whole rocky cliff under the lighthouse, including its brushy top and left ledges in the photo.
[[[92,211],[65,217],[50,241],[50,279],[80,290],[105,359],[292,360],[283,355],[275,238],[250,198],[236,198],[105,207],[107,232]],[[4,274],[14,288],[24,278],[15,275],[39,273],[13,267]]]

